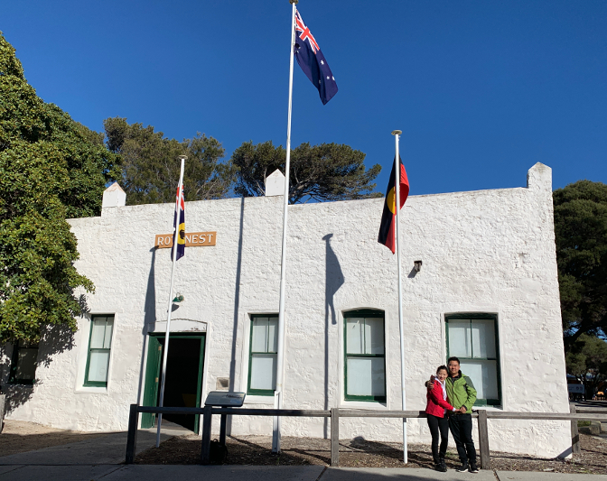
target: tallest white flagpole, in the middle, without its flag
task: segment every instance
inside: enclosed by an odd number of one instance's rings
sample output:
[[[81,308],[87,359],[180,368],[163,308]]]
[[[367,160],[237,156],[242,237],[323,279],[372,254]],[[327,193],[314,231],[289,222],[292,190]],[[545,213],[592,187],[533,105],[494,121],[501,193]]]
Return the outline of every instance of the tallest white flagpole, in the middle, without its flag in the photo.
[[[289,208],[289,168],[291,164],[291,111],[293,105],[293,61],[295,44],[295,5],[298,0],[289,0],[291,12],[291,52],[289,60],[289,114],[286,122],[285,199],[283,199],[283,250],[280,259],[280,301],[278,304],[278,347],[276,354],[276,389],[274,407],[283,405],[283,378],[285,377],[285,285],[286,285],[286,220]],[[280,416],[274,417],[272,452],[280,452]]]

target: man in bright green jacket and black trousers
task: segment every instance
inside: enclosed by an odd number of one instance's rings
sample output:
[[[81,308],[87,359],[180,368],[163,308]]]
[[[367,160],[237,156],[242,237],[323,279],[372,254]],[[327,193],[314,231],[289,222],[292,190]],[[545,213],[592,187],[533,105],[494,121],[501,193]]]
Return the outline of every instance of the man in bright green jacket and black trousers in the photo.
[[[474,389],[470,377],[462,375],[460,360],[457,357],[449,357],[447,367],[449,368],[449,377],[445,381],[447,399],[457,410],[449,416],[449,429],[453,435],[455,446],[457,446],[457,454],[462,462],[462,466],[458,467],[457,471],[460,473],[465,471],[478,473],[476,449],[472,440],[471,415],[472,406],[476,401],[476,389]],[[434,383],[428,381],[425,386],[431,389]]]

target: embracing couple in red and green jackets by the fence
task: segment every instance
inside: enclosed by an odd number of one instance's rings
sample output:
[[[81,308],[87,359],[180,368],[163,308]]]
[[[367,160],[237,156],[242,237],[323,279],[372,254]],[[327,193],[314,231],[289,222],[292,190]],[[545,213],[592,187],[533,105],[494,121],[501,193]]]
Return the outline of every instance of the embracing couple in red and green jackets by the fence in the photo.
[[[478,473],[476,449],[472,440],[472,406],[476,401],[476,389],[467,375],[460,371],[460,360],[449,357],[447,365],[436,369],[436,376],[425,383],[428,388],[428,427],[432,434],[432,457],[436,470],[445,472],[444,455],[447,452],[449,430],[453,435],[457,454],[462,466],[457,471]],[[441,439],[439,449],[438,439]]]

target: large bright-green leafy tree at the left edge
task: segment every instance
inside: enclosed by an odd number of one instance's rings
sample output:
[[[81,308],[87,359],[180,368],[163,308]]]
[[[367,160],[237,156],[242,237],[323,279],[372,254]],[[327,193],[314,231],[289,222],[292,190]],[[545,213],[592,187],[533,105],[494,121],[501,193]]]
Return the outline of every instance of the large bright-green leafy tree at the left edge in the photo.
[[[36,342],[46,327],[77,328],[74,290],[94,286],[73,265],[66,217],[98,215],[120,171],[95,133],[36,95],[1,33],[0,99],[0,342]]]

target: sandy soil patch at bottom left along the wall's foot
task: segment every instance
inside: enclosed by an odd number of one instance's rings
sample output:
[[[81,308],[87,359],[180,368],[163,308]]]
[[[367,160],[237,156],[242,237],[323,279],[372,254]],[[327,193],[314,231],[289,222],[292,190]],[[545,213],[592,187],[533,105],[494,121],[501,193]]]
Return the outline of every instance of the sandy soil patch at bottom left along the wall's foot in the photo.
[[[107,434],[107,432],[56,430],[34,422],[5,420],[5,428],[0,434],[0,457],[99,438]]]

